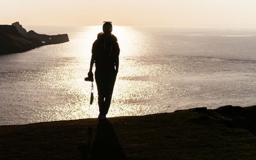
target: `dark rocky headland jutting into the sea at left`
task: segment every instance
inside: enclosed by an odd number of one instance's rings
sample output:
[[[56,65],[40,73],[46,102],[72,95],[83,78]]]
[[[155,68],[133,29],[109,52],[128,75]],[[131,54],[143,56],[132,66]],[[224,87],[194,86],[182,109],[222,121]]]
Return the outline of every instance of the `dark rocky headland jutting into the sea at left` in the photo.
[[[35,31],[26,31],[19,22],[12,25],[0,25],[0,54],[26,52],[36,47],[68,42],[68,35],[42,35]]]

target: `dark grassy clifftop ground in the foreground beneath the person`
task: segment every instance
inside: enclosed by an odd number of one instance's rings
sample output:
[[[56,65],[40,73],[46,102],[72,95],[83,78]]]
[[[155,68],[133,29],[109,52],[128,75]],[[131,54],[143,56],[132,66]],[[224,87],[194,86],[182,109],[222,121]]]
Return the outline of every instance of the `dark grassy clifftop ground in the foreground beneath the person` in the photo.
[[[0,126],[0,159],[256,159],[255,115],[224,106]]]

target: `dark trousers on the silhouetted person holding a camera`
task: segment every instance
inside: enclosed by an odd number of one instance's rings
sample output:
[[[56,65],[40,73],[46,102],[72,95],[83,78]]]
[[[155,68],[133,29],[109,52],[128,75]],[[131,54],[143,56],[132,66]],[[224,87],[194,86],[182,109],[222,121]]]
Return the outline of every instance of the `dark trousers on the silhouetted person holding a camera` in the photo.
[[[116,81],[115,69],[95,70],[95,81],[98,90],[98,104],[101,114],[108,114],[109,106],[111,104],[113,89]]]

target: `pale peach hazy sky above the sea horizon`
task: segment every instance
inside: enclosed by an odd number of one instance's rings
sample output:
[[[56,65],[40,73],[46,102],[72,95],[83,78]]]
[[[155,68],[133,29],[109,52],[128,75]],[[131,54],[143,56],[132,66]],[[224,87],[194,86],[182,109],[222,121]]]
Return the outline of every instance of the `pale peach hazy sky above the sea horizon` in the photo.
[[[256,27],[256,0],[1,0],[0,23]]]

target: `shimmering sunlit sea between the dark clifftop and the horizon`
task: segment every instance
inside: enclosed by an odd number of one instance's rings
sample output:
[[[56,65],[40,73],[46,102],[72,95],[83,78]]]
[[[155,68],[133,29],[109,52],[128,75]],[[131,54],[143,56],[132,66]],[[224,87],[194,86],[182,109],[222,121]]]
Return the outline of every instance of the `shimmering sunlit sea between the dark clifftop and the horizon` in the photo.
[[[96,118],[86,77],[101,26],[25,26],[70,42],[0,56],[0,125]],[[256,29],[114,26],[120,69],[108,116],[256,104]]]

